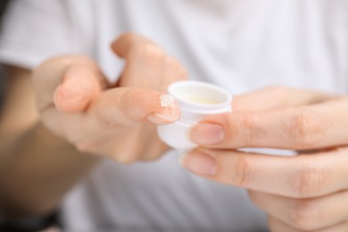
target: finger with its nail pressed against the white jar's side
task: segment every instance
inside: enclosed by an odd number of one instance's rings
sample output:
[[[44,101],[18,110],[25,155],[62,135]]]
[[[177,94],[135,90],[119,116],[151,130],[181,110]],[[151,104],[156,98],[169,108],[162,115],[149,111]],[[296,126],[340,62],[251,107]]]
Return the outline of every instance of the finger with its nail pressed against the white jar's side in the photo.
[[[198,145],[293,150],[348,144],[348,97],[269,112],[232,112],[205,118],[191,129]]]

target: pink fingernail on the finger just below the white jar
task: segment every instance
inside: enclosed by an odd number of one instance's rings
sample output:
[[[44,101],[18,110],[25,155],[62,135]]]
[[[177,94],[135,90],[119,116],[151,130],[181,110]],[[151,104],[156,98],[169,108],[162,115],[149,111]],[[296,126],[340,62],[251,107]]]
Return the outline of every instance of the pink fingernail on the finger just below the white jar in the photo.
[[[211,155],[186,153],[179,158],[181,166],[198,175],[212,176],[216,172],[216,162]]]

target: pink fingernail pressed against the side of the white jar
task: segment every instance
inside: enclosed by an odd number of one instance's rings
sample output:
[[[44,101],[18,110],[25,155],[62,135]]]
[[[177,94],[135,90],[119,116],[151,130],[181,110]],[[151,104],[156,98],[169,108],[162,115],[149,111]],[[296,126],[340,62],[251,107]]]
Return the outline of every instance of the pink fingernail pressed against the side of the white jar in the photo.
[[[222,142],[225,134],[218,124],[199,123],[190,131],[192,142],[199,145],[216,145]]]

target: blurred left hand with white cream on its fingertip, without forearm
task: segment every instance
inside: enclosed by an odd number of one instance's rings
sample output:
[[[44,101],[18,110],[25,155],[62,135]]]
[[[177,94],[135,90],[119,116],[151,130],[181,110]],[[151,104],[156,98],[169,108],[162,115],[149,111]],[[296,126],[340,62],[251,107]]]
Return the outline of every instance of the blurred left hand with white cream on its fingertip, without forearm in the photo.
[[[122,163],[153,160],[167,149],[153,125],[180,113],[175,101],[162,106],[160,98],[186,71],[145,37],[124,34],[112,49],[126,59],[117,85],[83,56],[56,57],[33,72],[42,121],[81,152]]]

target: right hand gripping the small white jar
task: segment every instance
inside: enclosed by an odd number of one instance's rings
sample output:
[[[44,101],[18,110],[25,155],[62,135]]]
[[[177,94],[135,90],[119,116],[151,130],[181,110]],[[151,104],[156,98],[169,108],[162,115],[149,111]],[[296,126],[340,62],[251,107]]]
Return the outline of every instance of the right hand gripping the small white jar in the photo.
[[[182,164],[203,178],[249,189],[272,231],[348,231],[347,105],[347,96],[288,88],[237,97],[235,112],[192,128],[201,147]],[[241,147],[300,154],[242,153]]]

